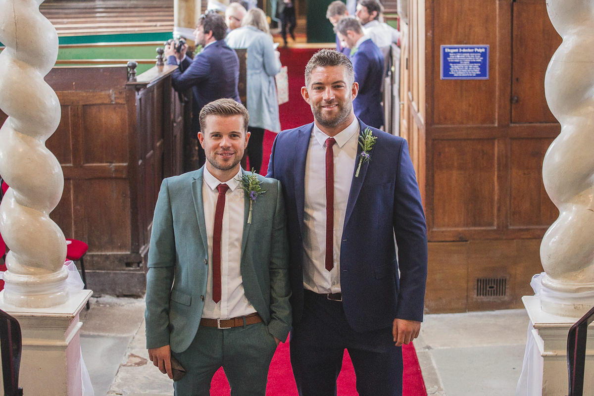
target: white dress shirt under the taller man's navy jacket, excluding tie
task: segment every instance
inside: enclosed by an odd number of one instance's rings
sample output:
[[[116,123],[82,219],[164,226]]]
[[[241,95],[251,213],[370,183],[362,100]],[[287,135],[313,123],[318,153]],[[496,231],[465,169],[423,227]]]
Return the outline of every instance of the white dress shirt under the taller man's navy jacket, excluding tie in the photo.
[[[340,292],[340,242],[346,204],[355,170],[359,121],[334,136],[334,267],[326,270],[326,139],[314,124],[305,161],[304,288],[315,293]]]

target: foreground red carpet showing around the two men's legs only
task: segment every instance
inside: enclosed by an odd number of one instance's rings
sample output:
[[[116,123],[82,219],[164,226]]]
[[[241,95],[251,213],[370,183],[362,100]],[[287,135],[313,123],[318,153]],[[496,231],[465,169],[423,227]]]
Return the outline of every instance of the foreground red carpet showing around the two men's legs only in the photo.
[[[415,347],[412,344],[402,347],[404,362],[402,396],[427,396],[425,383],[421,376],[419,362],[416,359]],[[229,396],[229,383],[225,378],[223,369],[219,369],[210,385],[211,396]],[[350,357],[345,351],[342,362],[342,371],[338,377],[337,394],[339,396],[356,396],[355,371],[350,362]],[[296,396],[297,387],[289,360],[289,343],[280,344],[274,353],[268,372],[267,396]]]

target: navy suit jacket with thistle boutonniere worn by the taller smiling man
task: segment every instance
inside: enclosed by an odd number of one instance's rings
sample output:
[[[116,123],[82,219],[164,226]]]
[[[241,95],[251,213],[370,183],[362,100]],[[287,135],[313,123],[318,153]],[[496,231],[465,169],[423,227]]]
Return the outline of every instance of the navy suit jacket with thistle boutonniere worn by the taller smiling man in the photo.
[[[268,164],[267,176],[280,180],[285,196],[294,323],[304,311],[305,161],[313,126],[280,132]],[[361,120],[359,126],[368,127]],[[391,327],[394,318],[422,321],[427,274],[425,215],[408,145],[371,130],[377,140],[355,178],[357,157],[340,246],[342,303],[356,331]]]

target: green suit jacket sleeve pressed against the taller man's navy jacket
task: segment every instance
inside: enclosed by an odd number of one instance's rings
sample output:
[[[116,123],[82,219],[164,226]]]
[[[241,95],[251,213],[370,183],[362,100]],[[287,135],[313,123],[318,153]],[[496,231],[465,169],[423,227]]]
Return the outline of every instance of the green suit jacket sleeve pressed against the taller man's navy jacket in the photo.
[[[270,334],[285,341],[291,327],[289,303],[289,242],[287,241],[285,202],[277,181],[276,210],[274,211],[270,254]]]

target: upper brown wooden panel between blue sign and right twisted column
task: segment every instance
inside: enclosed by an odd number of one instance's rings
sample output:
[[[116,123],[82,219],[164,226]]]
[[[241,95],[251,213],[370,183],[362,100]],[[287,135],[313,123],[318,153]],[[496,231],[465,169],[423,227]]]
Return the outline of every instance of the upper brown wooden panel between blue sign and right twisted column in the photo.
[[[561,37],[547,17],[543,0],[517,0],[513,7],[511,122],[555,122],[545,97],[546,66]]]

